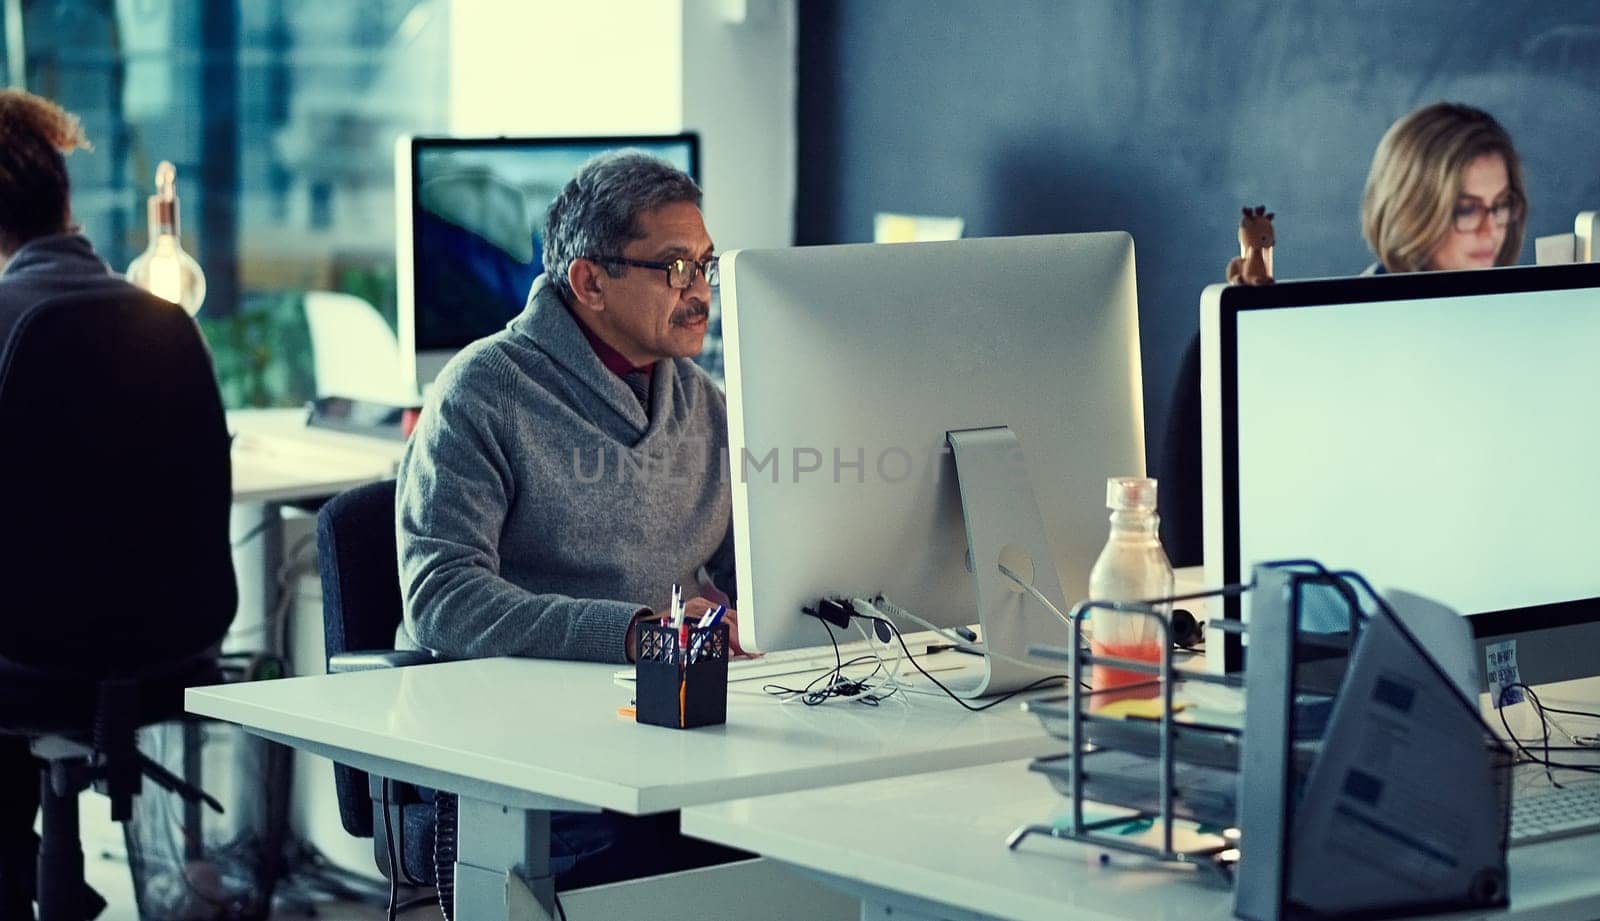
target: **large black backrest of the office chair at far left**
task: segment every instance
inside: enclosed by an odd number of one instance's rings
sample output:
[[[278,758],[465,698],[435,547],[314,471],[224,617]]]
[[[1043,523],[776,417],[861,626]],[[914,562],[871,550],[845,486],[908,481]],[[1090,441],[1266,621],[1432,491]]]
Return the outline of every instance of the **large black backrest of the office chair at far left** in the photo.
[[[195,321],[125,285],[0,344],[0,657],[99,680],[190,659],[238,603],[229,433]]]

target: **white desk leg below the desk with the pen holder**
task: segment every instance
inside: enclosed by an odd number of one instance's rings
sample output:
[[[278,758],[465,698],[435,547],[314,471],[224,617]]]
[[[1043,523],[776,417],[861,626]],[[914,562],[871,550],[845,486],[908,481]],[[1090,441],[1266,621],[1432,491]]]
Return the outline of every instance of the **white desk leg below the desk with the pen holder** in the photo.
[[[550,814],[458,798],[458,921],[552,921]]]

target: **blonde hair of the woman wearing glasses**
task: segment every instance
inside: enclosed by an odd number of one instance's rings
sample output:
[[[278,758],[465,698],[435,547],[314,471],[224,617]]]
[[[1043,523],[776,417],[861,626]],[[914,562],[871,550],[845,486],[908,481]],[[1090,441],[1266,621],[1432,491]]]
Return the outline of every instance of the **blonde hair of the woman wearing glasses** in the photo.
[[[1435,102],[1395,122],[1373,154],[1362,195],[1362,233],[1390,272],[1421,272],[1451,232],[1461,176],[1485,154],[1506,160],[1509,192],[1522,203],[1506,227],[1496,265],[1510,265],[1522,253],[1528,225],[1528,195],[1522,160],[1510,134],[1493,115],[1458,102]]]

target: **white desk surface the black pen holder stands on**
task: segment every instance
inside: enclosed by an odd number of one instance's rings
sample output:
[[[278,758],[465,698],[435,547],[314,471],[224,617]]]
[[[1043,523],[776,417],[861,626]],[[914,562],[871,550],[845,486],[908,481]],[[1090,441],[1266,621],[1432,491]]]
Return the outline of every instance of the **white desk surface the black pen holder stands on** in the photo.
[[[806,707],[760,683],[730,686],[725,726],[645,726],[618,715],[634,689],[613,668],[480,659],[195,688],[186,707],[355,766],[416,766],[635,815],[1061,750],[1016,702],[986,713],[922,694]]]

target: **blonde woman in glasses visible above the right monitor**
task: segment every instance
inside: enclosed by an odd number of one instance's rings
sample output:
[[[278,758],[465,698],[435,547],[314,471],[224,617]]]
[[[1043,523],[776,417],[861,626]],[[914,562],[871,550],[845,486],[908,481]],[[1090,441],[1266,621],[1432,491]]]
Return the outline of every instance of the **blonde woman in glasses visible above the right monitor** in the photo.
[[[1522,253],[1522,158],[1493,115],[1435,102],[1395,122],[1373,154],[1362,232],[1366,273],[1488,269]]]

